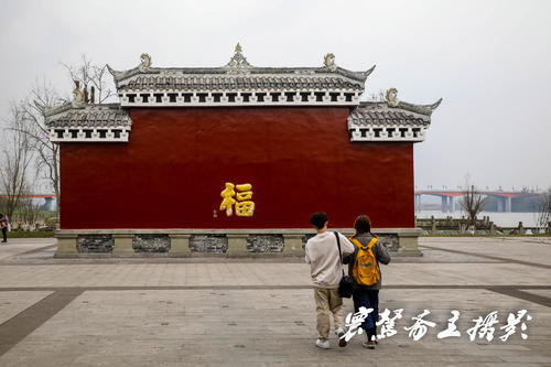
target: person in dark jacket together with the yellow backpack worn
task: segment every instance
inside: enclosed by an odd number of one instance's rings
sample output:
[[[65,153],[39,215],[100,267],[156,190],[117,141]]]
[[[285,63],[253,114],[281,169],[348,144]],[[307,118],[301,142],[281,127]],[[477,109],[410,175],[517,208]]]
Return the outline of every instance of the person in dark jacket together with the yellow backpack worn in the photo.
[[[379,262],[388,265],[390,253],[385,245],[380,244],[377,236],[371,234],[371,220],[367,215],[360,215],[354,223],[356,234],[350,237],[355,245],[354,253],[344,259],[348,263],[348,274],[354,280],[353,301],[354,312],[359,307],[372,309],[361,323],[367,341],[361,346],[375,349],[377,343],[377,325],[379,321],[379,290],[381,288],[381,273]]]

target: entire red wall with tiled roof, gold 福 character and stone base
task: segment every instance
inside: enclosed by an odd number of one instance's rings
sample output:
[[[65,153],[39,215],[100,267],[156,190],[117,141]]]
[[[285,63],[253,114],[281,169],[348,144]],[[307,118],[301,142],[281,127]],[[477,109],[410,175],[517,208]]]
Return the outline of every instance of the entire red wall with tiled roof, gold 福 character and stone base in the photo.
[[[440,101],[359,100],[365,72],[256,67],[240,46],[222,67],[109,68],[119,104],[47,112],[61,144],[57,256],[110,252],[298,255],[312,212],[332,228],[368,214],[419,253],[413,143]]]

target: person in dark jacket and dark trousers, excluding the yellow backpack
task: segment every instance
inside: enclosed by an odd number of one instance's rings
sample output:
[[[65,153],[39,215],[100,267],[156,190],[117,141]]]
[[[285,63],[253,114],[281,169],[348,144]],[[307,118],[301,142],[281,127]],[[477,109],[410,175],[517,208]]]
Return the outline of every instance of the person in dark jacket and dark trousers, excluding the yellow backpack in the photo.
[[[350,238],[353,244],[357,240],[363,247],[366,247],[374,238],[377,238],[376,235],[371,234],[371,220],[367,215],[358,216],[354,223],[354,228],[356,229],[356,234]],[[352,295],[354,312],[358,312],[361,306],[374,310],[361,324],[361,328],[364,328],[367,336],[367,341],[363,342],[361,345],[366,348],[375,349],[377,337],[376,323],[379,321],[379,290],[381,289],[382,274],[372,285],[358,284],[353,276],[354,263],[356,262],[356,256],[358,253],[358,245],[355,247],[354,253],[343,259],[343,262],[348,263],[348,274],[354,280],[354,291]],[[371,250],[378,265],[388,265],[390,262],[390,253],[385,245],[376,241]]]

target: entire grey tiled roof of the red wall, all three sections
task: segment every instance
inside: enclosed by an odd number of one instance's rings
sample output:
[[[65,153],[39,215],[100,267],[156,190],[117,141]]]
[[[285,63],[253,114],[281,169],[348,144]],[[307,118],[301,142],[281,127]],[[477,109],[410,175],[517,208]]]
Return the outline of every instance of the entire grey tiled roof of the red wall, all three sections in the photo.
[[[256,67],[241,47],[228,64],[212,68],[155,68],[151,57],[126,72],[108,66],[120,104],[86,104],[78,84],[75,99],[46,112],[51,141],[127,142],[133,107],[212,106],[339,106],[353,108],[348,119],[352,141],[422,141],[431,123],[432,105],[412,105],[397,99],[396,88],[386,101],[360,102],[365,80],[375,69],[350,72],[336,66],[326,54],[323,67]]]

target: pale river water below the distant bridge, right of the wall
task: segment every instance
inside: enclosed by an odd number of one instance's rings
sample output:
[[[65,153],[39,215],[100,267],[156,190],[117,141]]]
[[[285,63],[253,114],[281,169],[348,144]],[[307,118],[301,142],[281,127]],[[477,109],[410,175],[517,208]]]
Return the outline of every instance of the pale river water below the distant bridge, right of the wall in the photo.
[[[522,226],[525,227],[536,227],[536,223],[538,222],[539,213],[496,213],[496,212],[482,212],[478,215],[478,218],[489,217],[489,220],[494,222],[494,224],[498,227],[517,227],[519,222],[522,222]],[[415,216],[418,218],[430,218],[434,216],[434,218],[461,218],[462,216],[466,217],[464,212],[447,212],[443,213],[440,211],[420,211],[415,212]]]

